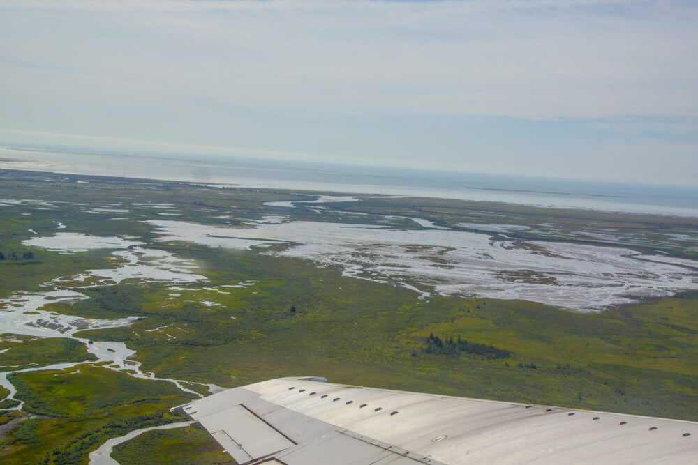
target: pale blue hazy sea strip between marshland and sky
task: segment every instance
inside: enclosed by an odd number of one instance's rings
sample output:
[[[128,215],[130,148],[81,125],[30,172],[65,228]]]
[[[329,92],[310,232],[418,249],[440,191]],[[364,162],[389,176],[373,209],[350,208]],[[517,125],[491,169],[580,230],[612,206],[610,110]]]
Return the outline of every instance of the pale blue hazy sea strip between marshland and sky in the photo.
[[[0,147],[0,168],[246,188],[439,197],[698,218],[698,188],[246,158],[167,158]]]

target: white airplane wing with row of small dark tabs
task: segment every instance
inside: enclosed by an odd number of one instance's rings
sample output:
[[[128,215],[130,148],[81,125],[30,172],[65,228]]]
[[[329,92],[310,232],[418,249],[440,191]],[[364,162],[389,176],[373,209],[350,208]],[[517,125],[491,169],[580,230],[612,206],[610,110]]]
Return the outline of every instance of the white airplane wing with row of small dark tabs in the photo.
[[[181,406],[246,464],[689,464],[698,423],[282,378]]]

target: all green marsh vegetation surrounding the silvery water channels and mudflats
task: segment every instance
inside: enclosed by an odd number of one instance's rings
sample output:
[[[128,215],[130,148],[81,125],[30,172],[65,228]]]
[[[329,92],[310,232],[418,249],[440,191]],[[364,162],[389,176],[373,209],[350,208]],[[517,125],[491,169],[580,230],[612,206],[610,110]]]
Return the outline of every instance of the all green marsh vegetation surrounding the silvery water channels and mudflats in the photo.
[[[156,237],[140,220],[242,224],[280,213],[264,201],[300,197],[294,192],[200,188],[179,183],[72,176],[45,182],[36,173],[0,171],[0,199],[61,199],[69,204],[15,204],[0,207],[0,252],[17,260],[0,261],[0,299],[17,291],[45,291],[59,276],[112,268],[110,250],[61,254],[22,245],[35,234],[82,232]],[[76,184],[77,179],[89,183]],[[124,200],[127,199],[127,200]],[[138,203],[126,220],[105,220],[92,208]],[[172,208],[174,208],[172,207]],[[45,209],[44,209],[45,208]],[[506,215],[509,224],[540,224],[517,231],[521,237],[600,243],[579,234],[592,227],[623,229],[635,250],[664,250],[674,257],[696,257],[690,241],[661,245],[659,231],[695,234],[694,219],[611,215],[586,211],[449,201],[371,199],[333,208],[375,215],[361,222],[414,227],[419,216],[438,224],[487,224]],[[303,208],[297,219],[318,221]],[[111,216],[111,215],[110,215]],[[223,218],[225,217],[225,218]],[[109,217],[107,217],[109,218]],[[334,221],[357,222],[344,215]],[[171,219],[171,218],[170,218]],[[65,225],[57,229],[57,223]],[[548,229],[545,229],[545,228]],[[31,229],[31,231],[29,231]],[[632,234],[630,234],[632,233]],[[418,295],[403,287],[341,275],[309,261],[273,257],[187,243],[149,243],[193,261],[207,282],[178,285],[124,282],[79,289],[89,296],[77,303],[50,303],[43,310],[81,318],[142,317],[123,328],[78,333],[94,341],[121,341],[137,353],[144,372],[186,381],[233,387],[277,376],[326,376],[337,383],[436,392],[466,397],[535,402],[577,408],[698,420],[698,294],[646,300],[607,312],[580,314],[519,300],[467,299]],[[663,247],[663,248],[662,248]],[[33,252],[31,259],[22,259]],[[241,287],[224,287],[238,285]],[[71,286],[80,285],[70,284]],[[295,312],[291,311],[291,308]],[[474,344],[510,351],[505,358],[478,353],[428,353],[430,334],[447,340],[459,335]],[[87,463],[87,454],[109,437],[141,427],[181,420],[168,408],[191,395],[171,383],[134,379],[99,364],[91,365],[84,344],[68,338],[36,339],[0,335],[0,365],[28,367],[84,361],[63,372],[38,371],[10,376],[23,399],[23,422],[0,436],[0,462]],[[34,365],[31,365],[34,366]],[[205,392],[202,387],[191,388]],[[0,399],[6,393],[0,392]],[[1,409],[1,407],[0,407]],[[16,413],[0,411],[0,425]],[[194,427],[149,432],[119,445],[122,464],[226,463],[214,441]],[[158,459],[158,457],[160,457]],[[195,457],[186,462],[186,457]]]

